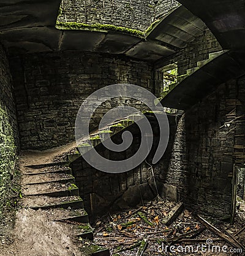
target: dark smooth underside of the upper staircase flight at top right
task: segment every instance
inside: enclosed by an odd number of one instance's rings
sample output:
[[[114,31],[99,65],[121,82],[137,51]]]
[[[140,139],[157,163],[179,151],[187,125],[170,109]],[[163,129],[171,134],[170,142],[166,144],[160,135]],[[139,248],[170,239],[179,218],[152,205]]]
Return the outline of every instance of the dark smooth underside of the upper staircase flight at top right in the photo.
[[[199,63],[195,72],[173,85],[161,101],[165,107],[186,111],[214,91],[218,85],[245,74],[245,6],[241,0],[179,0],[192,15],[200,18],[216,37],[224,53]],[[188,71],[187,71],[188,72]]]

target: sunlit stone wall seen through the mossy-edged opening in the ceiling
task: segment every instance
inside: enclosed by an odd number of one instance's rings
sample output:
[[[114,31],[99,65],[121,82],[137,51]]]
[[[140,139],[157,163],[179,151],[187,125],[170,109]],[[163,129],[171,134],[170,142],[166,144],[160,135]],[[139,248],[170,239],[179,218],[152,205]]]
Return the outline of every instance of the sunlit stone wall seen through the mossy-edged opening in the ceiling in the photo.
[[[174,7],[175,0],[63,0],[58,21],[109,24],[145,31]]]

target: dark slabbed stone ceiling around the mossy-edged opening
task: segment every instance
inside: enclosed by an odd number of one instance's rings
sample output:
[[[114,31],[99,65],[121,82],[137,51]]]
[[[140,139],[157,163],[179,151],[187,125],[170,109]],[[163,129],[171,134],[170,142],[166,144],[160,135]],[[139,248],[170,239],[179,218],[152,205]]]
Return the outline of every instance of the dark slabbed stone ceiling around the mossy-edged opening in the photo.
[[[55,25],[60,4],[61,0],[1,1],[0,41],[9,55],[79,50],[154,63],[186,47],[206,29],[200,18],[181,6],[144,38],[109,30],[59,30]]]

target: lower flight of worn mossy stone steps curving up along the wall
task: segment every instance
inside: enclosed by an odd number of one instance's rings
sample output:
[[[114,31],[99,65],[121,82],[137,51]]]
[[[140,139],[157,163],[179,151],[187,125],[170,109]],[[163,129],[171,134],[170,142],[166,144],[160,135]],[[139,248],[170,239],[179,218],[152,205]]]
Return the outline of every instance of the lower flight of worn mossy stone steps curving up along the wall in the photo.
[[[110,133],[110,136],[116,135],[140,118],[134,115],[130,119],[118,120],[105,127],[105,130],[100,133],[90,134],[91,145],[88,145],[88,140],[85,140],[80,147],[83,147],[86,153],[91,147],[97,147],[101,143],[99,134],[102,134],[101,136],[105,133]],[[81,157],[81,153],[78,151],[66,153],[66,157],[67,161],[24,167],[21,177],[21,204],[26,209],[45,211],[51,221],[67,223],[72,234],[77,238],[93,240],[93,228],[89,224],[89,216],[84,209],[72,169],[69,167],[72,161]],[[92,255],[110,255],[107,249],[98,248]]]

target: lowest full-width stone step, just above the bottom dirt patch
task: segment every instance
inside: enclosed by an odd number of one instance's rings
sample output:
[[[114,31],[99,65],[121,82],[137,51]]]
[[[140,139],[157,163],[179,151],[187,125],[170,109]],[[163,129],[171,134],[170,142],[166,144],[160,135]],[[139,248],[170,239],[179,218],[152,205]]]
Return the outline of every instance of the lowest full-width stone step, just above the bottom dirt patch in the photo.
[[[22,204],[26,208],[32,209],[53,209],[53,208],[83,208],[83,200],[80,196],[25,196],[22,199]]]

